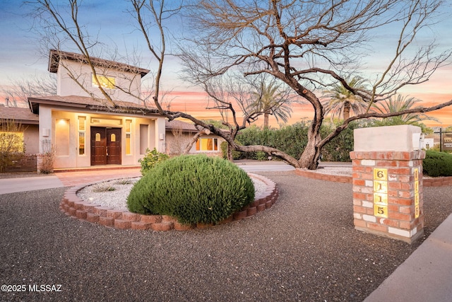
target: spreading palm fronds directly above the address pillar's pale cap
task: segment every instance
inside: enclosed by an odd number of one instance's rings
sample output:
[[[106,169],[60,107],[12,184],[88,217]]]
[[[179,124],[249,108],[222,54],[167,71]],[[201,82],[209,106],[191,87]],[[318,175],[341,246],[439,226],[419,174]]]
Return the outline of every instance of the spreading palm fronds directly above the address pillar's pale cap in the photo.
[[[374,111],[379,113],[393,113],[399,112],[402,110],[412,109],[416,103],[419,103],[421,100],[418,98],[410,98],[409,95],[402,96],[397,95],[397,98],[390,98],[388,100],[383,101],[380,105],[374,105]],[[376,126],[389,126],[396,124],[418,124],[423,120],[434,120],[439,122],[434,117],[430,117],[424,113],[408,113],[406,115],[398,115],[397,117],[386,117],[383,120],[376,121],[374,124]]]

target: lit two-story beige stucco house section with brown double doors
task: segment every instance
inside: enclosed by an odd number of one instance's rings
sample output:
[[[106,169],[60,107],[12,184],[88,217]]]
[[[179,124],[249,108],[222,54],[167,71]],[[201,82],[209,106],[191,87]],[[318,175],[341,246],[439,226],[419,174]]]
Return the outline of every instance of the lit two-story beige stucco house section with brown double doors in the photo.
[[[165,118],[138,98],[149,70],[50,50],[57,95],[28,98],[39,115],[39,153],[55,147],[54,168],[136,165],[146,149],[165,152]],[[105,89],[114,104],[102,95]]]

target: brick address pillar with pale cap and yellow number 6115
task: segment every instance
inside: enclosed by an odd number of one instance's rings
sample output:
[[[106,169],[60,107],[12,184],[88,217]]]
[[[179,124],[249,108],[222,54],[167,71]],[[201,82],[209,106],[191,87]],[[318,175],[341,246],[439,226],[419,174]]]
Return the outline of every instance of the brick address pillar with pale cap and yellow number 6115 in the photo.
[[[424,234],[420,132],[411,125],[355,129],[350,158],[357,230],[408,243]]]

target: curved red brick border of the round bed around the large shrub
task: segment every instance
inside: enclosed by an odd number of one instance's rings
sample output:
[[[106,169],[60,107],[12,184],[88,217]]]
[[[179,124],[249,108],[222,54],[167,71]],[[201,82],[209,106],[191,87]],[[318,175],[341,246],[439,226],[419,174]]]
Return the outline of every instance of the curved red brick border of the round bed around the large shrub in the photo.
[[[273,206],[273,204],[275,204],[279,194],[278,187],[276,187],[275,182],[261,175],[251,173],[249,173],[249,175],[251,178],[256,178],[264,182],[266,184],[266,190],[260,195],[256,196],[254,202],[247,205],[243,209],[240,209],[229,218],[220,221],[220,223],[218,224],[230,223],[232,221],[245,219],[247,217],[253,216],[260,211],[269,209]],[[108,180],[102,180],[102,182],[104,181]],[[142,215],[131,213],[130,211],[114,209],[112,207],[102,207],[99,204],[85,202],[83,199],[77,196],[78,191],[82,190],[88,185],[95,185],[95,183],[97,182],[71,187],[69,190],[66,190],[59,207],[61,211],[75,219],[99,223],[102,226],[122,229],[131,228],[134,230],[150,229],[153,231],[184,231],[193,228],[207,228],[209,226],[213,226],[213,223],[197,223],[187,225],[179,223],[177,219],[172,216]]]

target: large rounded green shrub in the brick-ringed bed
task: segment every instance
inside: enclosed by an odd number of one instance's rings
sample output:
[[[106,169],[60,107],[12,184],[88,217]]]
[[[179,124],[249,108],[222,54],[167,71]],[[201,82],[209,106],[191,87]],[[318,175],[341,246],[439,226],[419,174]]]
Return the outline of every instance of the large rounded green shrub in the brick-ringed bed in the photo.
[[[246,172],[222,158],[178,156],[156,165],[133,186],[129,211],[216,223],[254,201]]]

